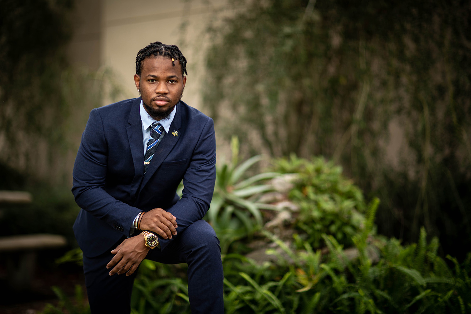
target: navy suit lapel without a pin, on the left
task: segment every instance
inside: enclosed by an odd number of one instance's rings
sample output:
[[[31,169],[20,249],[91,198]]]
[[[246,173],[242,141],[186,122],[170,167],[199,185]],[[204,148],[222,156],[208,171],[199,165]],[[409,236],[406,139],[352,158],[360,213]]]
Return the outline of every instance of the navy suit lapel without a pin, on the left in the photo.
[[[144,173],[144,138],[142,136],[142,121],[139,112],[141,97],[138,97],[132,103],[128,123],[130,124],[126,131],[128,133],[129,146],[134,164],[134,178],[131,184],[131,195],[136,195],[139,183]]]

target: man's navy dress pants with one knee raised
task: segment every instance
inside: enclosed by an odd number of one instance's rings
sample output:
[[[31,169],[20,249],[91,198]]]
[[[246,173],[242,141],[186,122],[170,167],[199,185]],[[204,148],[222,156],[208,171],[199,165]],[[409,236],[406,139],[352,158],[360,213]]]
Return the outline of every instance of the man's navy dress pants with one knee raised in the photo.
[[[97,239],[99,241],[99,239]],[[137,272],[109,275],[106,265],[113,250],[95,258],[83,257],[85,283],[92,314],[129,314],[132,285]],[[188,294],[191,313],[224,313],[223,272],[219,240],[204,220],[189,225],[177,234],[163,252],[150,250],[146,258],[164,264],[188,264]]]

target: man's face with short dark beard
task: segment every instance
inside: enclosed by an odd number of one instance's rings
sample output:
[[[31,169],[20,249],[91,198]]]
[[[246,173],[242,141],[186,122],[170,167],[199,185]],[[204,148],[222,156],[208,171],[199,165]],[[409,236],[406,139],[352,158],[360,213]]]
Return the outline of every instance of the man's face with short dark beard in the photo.
[[[181,73],[178,60],[149,56],[141,63],[141,75],[134,75],[147,113],[156,121],[166,118],[179,102],[187,77]]]

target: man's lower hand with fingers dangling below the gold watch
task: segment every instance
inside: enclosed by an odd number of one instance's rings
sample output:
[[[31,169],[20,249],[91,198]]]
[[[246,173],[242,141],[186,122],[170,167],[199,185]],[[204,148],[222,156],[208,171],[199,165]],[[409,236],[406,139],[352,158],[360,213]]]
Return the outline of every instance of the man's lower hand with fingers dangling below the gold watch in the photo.
[[[144,236],[138,234],[135,237],[124,239],[116,249],[112,250],[111,253],[116,255],[106,265],[106,268],[111,268],[116,263],[118,264],[111,270],[110,276],[116,273],[119,275],[126,273],[126,276],[129,276],[134,273],[150,250],[144,244],[145,241]]]

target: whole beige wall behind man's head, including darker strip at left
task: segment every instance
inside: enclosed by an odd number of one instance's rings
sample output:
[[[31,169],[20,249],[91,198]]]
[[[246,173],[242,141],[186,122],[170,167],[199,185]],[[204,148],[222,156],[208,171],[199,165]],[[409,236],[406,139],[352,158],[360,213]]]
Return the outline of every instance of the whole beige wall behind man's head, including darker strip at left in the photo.
[[[125,96],[138,97],[133,77],[139,49],[153,41],[177,45],[188,62],[183,101],[200,109],[204,29],[230,12],[227,0],[76,0],[69,56],[90,70],[111,68]]]

